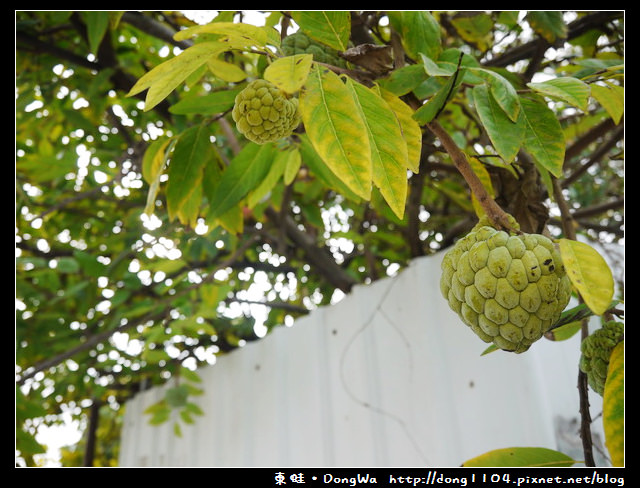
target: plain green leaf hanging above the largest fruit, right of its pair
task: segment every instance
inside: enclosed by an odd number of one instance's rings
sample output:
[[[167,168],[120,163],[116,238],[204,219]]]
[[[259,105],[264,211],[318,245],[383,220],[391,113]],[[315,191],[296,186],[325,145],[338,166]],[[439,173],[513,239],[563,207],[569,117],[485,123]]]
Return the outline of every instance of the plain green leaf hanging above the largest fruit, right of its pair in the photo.
[[[565,138],[553,111],[544,103],[522,98],[524,147],[535,161],[556,177],[562,176]]]

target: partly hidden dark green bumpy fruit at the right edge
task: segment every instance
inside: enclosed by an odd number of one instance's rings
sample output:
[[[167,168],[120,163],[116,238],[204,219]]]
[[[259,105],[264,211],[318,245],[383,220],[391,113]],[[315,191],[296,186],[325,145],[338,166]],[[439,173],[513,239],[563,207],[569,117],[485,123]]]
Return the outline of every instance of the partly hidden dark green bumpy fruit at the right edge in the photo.
[[[600,395],[604,394],[611,352],[623,339],[624,324],[610,321],[589,334],[580,345],[580,370],[587,375],[589,386]]]

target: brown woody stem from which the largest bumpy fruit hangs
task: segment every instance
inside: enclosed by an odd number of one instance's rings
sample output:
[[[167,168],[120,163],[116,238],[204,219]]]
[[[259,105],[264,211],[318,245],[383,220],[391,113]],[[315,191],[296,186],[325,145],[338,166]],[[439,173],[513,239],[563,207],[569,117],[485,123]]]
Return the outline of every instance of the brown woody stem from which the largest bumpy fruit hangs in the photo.
[[[471,168],[467,157],[456,145],[449,133],[436,120],[432,120],[426,125],[440,140],[449,156],[451,156],[453,164],[455,164],[456,168],[469,185],[471,192],[475,195],[478,203],[480,203],[482,209],[485,211],[487,217],[495,228],[519,233],[519,230],[513,228],[509,219],[509,214],[502,210],[491,195],[489,195],[487,189],[480,181],[480,178],[478,178],[478,175]]]

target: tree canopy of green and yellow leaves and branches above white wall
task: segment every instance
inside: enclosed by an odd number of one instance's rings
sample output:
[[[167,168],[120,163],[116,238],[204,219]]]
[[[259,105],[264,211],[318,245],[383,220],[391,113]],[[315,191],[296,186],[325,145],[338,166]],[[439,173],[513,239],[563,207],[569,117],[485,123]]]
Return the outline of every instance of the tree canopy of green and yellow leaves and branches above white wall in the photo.
[[[480,214],[624,242],[622,12],[214,14],[16,13],[26,464],[39,425],[92,405],[113,419],[170,377],[152,421],[193,422],[195,367],[447,248]],[[285,55],[295,31],[347,64]],[[302,115],[263,145],[231,119],[259,78]],[[610,316],[610,296],[579,291]]]

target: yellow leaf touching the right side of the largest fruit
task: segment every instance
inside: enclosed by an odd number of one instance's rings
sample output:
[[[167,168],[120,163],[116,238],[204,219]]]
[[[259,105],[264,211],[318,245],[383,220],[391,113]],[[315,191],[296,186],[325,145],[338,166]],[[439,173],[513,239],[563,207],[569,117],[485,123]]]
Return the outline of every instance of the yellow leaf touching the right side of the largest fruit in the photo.
[[[587,306],[602,315],[613,298],[613,275],[604,258],[584,242],[560,239],[560,255],[567,275]]]

